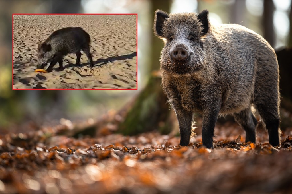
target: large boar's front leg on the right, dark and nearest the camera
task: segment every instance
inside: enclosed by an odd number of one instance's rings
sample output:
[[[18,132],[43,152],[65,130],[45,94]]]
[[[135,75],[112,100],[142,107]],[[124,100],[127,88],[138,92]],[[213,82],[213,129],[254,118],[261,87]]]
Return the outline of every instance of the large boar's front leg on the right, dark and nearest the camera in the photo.
[[[204,110],[202,123],[202,142],[207,148],[213,148],[214,128],[218,118],[219,109]]]

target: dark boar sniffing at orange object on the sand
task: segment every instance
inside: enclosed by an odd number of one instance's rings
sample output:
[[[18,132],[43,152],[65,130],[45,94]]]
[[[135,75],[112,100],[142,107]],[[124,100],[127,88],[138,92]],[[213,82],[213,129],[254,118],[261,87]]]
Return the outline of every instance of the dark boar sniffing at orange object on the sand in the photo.
[[[37,69],[43,69],[50,63],[47,71],[53,70],[56,63],[63,69],[63,56],[76,54],[76,65],[80,63],[81,50],[86,54],[90,67],[93,61],[89,50],[90,36],[81,27],[67,27],[54,31],[43,43],[38,45]]]

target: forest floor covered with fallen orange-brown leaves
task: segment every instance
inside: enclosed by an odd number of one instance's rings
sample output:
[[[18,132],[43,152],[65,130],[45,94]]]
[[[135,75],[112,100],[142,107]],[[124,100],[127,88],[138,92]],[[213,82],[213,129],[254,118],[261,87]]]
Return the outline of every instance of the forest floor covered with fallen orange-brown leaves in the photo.
[[[200,129],[181,147],[178,135],[123,136],[110,124],[96,137],[64,135],[72,128],[2,131],[0,193],[292,193],[292,128],[272,147],[264,129],[244,143],[237,124],[217,124],[214,149]]]

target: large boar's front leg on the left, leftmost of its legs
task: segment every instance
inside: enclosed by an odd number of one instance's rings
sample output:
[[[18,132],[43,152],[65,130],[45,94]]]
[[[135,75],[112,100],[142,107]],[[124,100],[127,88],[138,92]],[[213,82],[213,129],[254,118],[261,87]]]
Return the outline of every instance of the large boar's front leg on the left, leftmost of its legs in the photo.
[[[178,119],[178,125],[180,128],[180,145],[187,146],[190,142],[192,133],[193,113],[187,112],[183,109],[176,109],[175,114]]]

